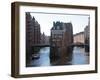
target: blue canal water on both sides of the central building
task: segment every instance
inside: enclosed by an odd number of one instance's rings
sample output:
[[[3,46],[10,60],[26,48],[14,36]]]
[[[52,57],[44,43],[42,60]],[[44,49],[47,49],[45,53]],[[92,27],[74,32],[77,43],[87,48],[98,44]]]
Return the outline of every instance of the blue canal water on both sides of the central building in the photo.
[[[32,59],[28,67],[36,66],[51,66],[50,64],[50,47],[43,47],[39,51],[40,57],[38,59]],[[84,51],[84,48],[74,47],[73,55],[70,62],[71,65],[89,64],[89,55]]]

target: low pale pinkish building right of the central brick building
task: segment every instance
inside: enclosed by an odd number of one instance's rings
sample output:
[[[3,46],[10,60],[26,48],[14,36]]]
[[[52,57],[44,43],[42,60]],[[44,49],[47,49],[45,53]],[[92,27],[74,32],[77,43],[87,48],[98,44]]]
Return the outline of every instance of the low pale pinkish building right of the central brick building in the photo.
[[[79,32],[79,33],[74,34],[74,43],[84,44],[84,32]]]

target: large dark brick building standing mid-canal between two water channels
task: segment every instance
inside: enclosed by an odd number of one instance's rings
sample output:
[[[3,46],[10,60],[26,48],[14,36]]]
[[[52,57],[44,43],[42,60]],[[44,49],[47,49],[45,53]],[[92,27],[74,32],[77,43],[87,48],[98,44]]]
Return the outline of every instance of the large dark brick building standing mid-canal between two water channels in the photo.
[[[64,59],[64,57],[67,56],[68,46],[71,43],[73,43],[72,24],[63,22],[53,22],[50,37],[51,60],[54,60],[56,58]]]

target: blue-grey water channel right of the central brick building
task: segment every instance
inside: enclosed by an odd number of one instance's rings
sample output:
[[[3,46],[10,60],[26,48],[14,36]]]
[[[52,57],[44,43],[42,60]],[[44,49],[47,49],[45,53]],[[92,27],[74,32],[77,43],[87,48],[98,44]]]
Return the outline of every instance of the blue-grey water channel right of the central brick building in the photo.
[[[75,64],[89,64],[89,56],[88,53],[84,52],[84,48],[74,47],[73,55],[72,55],[72,65]]]

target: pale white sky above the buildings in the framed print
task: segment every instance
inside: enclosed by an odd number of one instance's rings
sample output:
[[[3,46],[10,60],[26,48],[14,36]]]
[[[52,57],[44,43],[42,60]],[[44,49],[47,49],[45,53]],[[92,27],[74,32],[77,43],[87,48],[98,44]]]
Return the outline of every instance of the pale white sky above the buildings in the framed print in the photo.
[[[50,29],[53,27],[53,22],[71,22],[73,25],[73,34],[84,31],[84,28],[88,25],[89,15],[75,15],[75,14],[54,14],[44,12],[31,12],[31,16],[38,21],[41,27],[41,33],[50,36]]]

